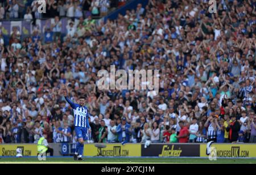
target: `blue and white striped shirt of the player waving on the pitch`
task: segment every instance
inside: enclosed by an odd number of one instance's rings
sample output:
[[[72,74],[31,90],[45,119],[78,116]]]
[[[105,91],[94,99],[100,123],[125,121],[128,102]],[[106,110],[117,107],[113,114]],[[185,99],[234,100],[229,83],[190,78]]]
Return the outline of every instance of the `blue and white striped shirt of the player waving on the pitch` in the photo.
[[[67,102],[71,105],[74,112],[74,125],[79,127],[88,127],[90,129],[88,121],[88,109],[85,106],[80,106],[79,104],[73,103],[68,97],[65,97]]]

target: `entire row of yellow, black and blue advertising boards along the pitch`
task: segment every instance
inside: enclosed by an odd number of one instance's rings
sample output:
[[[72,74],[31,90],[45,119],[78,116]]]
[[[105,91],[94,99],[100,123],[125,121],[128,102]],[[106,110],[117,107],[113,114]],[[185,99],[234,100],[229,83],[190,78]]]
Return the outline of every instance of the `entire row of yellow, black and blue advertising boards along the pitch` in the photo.
[[[54,156],[68,156],[75,151],[71,143],[51,143]],[[213,143],[217,157],[256,157],[256,144],[250,143]],[[15,156],[16,149],[21,148],[23,156],[36,156],[36,144],[0,144],[0,156]],[[84,156],[113,157],[207,157],[206,143],[155,143],[144,147],[140,143],[86,143]]]

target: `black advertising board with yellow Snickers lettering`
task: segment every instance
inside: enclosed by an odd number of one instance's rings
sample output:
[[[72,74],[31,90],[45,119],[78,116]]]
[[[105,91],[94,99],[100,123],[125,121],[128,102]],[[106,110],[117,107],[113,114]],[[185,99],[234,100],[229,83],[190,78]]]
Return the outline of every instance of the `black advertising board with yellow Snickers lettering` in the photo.
[[[141,146],[141,156],[199,157],[200,144],[150,144]]]

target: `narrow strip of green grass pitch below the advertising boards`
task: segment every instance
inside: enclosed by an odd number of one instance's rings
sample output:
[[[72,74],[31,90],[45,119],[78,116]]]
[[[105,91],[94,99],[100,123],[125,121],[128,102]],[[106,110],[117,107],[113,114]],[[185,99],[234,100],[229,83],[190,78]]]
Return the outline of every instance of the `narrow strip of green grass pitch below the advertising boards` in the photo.
[[[46,161],[39,161],[36,157],[22,157],[22,158],[0,158],[0,163],[84,163],[84,164],[108,164],[108,163],[123,163],[123,164],[138,164],[138,163],[243,163],[256,164],[256,159],[217,159],[210,161],[202,158],[118,158],[118,157],[84,157],[83,161],[74,161],[72,157],[47,157]]]

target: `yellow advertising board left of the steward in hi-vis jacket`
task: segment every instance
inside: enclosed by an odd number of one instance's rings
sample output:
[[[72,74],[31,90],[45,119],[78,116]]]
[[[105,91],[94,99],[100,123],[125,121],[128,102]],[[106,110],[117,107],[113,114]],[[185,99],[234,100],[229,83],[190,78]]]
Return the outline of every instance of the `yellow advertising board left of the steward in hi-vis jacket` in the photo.
[[[0,144],[0,156],[16,156],[20,148],[23,156],[37,156],[36,144]]]

